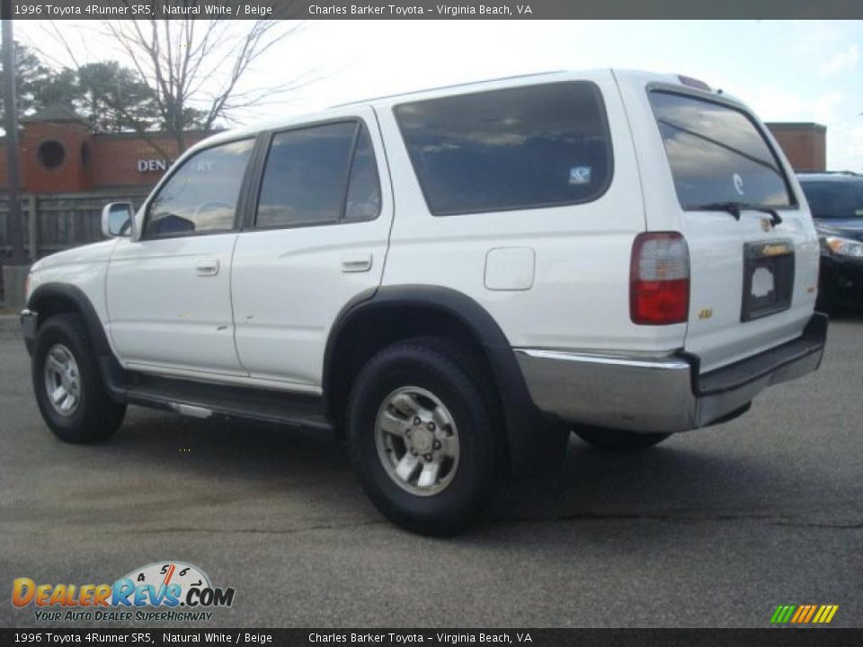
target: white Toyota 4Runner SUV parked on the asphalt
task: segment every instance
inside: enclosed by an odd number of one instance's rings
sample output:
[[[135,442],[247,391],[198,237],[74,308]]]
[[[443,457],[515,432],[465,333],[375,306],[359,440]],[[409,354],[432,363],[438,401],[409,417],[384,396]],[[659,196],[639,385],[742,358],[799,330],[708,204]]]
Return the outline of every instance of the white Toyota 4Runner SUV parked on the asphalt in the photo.
[[[458,532],[569,431],[609,450],[818,367],[819,246],[742,103],[601,70],[459,85],[210,137],[110,240],[33,266],[40,410],[127,403],[334,430],[388,518]]]

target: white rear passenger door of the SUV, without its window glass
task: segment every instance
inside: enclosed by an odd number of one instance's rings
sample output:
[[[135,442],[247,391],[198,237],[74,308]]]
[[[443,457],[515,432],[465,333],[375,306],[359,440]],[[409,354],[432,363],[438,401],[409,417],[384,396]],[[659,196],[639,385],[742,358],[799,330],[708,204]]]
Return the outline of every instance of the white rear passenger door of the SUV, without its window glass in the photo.
[[[393,199],[377,120],[369,108],[329,116],[359,117],[368,129],[381,212],[366,222],[240,235],[232,270],[236,349],[255,378],[319,386],[336,316],[353,297],[377,288],[383,275]]]

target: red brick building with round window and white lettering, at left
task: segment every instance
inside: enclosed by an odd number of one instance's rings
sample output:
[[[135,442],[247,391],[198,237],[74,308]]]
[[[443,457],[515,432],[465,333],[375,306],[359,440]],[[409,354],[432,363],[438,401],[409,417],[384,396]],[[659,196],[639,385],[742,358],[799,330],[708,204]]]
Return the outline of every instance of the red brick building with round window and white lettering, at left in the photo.
[[[207,135],[187,131],[186,146]],[[29,193],[149,188],[177,155],[176,141],[165,132],[147,137],[93,133],[85,120],[65,108],[23,117],[19,142],[22,188]],[[0,186],[5,185],[5,138],[0,138]]]

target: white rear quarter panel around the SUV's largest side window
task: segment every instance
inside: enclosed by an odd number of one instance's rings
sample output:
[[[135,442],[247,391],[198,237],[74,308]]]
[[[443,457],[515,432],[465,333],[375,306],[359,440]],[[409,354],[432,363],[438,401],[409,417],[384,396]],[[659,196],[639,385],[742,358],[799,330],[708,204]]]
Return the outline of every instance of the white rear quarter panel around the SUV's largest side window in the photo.
[[[385,285],[431,284],[473,297],[514,347],[631,350],[663,354],[683,344],[683,324],[647,327],[629,320],[629,259],[645,230],[645,210],[627,115],[609,71],[548,75],[545,81],[597,84],[608,111],[613,179],[599,199],[580,205],[434,217],[402,143],[392,105],[378,111],[396,192]],[[537,83],[483,84],[483,90]],[[458,88],[449,93],[476,92]],[[432,93],[433,95],[434,93]],[[494,248],[534,251],[533,287],[502,291],[485,285]]]

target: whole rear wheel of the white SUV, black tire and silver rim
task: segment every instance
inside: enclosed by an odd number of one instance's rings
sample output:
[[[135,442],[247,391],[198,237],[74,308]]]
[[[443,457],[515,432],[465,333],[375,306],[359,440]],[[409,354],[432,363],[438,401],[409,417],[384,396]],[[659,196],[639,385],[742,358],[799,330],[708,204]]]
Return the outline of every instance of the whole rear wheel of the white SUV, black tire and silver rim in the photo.
[[[348,403],[363,489],[385,517],[423,535],[465,530],[505,490],[496,396],[470,357],[437,338],[393,344],[362,368]]]

